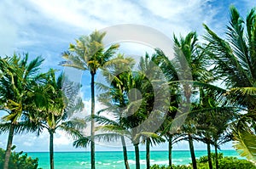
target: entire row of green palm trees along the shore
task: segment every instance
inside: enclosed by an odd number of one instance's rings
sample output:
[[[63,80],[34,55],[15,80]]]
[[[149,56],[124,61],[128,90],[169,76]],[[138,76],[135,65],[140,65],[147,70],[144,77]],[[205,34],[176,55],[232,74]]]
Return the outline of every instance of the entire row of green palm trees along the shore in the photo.
[[[79,85],[65,80],[55,71],[39,73],[43,59],[30,63],[27,55],[1,59],[0,108],[3,116],[0,132],[9,132],[4,168],[8,168],[15,133],[49,131],[50,167],[53,163],[53,135],[60,128],[75,139],[75,147],[90,144],[91,168],[95,169],[95,141],[120,141],[125,168],[129,169],[127,139],[134,145],[136,168],[140,168],[139,144],[146,146],[147,169],[150,145],[168,143],[169,166],[172,145],[181,140],[189,144],[193,168],[197,168],[194,141],[207,144],[208,164],[212,168],[211,145],[218,168],[219,145],[235,140],[234,147],[249,161],[256,162],[256,12],[246,20],[230,7],[227,40],[218,37],[207,25],[204,43],[195,32],[174,36],[175,58],[170,60],[160,48],[146,54],[138,64],[117,54],[119,44],[105,48],[105,32],[94,31],[80,37],[63,53],[63,66],[89,70],[91,115],[85,121],[73,119],[82,109],[77,98]],[[115,57],[114,57],[115,56]],[[105,82],[95,84],[101,70]],[[180,75],[185,77],[180,79]],[[64,79],[64,81],[63,81]],[[191,79],[191,80],[188,80]],[[65,84],[63,85],[63,82]],[[224,87],[219,87],[223,83]],[[101,90],[97,99],[105,108],[95,112],[95,86]],[[185,109],[185,108],[188,108]],[[107,112],[109,116],[102,115]],[[185,121],[184,118],[186,117]],[[90,121],[90,136],[84,136]],[[182,124],[179,124],[183,121]]]

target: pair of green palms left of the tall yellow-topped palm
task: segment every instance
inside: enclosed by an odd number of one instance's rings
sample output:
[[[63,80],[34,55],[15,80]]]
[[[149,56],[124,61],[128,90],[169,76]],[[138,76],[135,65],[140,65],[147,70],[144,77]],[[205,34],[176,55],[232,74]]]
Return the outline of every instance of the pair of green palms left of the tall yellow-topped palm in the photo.
[[[49,132],[50,168],[54,168],[54,133],[57,129],[79,136],[85,122],[74,118],[73,113],[83,108],[78,97],[79,84],[68,81],[55,70],[40,73],[44,59],[28,61],[28,54],[14,54],[0,59],[0,108],[6,115],[0,123],[0,133],[8,132],[4,169],[9,168],[9,158],[14,135],[46,129]]]

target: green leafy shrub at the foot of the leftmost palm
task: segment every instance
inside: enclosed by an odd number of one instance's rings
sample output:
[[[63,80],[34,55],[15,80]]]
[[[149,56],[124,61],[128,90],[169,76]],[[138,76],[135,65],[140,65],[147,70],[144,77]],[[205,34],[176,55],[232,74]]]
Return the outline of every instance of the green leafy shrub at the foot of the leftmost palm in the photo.
[[[15,149],[15,147],[13,148]],[[5,150],[0,148],[0,169],[3,169]],[[27,154],[12,152],[9,159],[11,169],[38,169],[38,158],[32,159]]]

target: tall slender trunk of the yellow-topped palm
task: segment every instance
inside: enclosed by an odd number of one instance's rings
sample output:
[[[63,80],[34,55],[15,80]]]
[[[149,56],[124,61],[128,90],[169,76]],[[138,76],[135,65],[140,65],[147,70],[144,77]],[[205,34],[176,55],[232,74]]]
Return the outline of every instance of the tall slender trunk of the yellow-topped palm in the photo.
[[[94,72],[90,72],[91,80],[90,80],[90,92],[91,92],[91,115],[95,115],[95,94],[94,94]],[[94,120],[91,119],[90,121],[90,165],[91,169],[95,169],[95,142],[94,142]]]

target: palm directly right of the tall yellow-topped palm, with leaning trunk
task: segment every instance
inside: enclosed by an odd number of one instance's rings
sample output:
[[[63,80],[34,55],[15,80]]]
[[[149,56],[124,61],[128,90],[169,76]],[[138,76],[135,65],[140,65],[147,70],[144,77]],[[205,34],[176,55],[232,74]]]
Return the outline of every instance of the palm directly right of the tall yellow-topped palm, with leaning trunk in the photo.
[[[122,119],[123,108],[125,106],[125,98],[121,94],[123,87],[119,85],[119,82],[125,82],[125,77],[128,76],[128,73],[131,71],[132,67],[135,65],[134,59],[124,58],[123,54],[118,54],[117,58],[113,61],[112,68],[108,67],[102,70],[102,75],[105,77],[107,85],[104,83],[96,83],[96,87],[103,91],[98,96],[98,100],[104,104],[107,108],[100,110],[97,115],[90,115],[87,117],[88,121],[94,120],[99,127],[96,127],[98,130],[108,130],[107,133],[96,134],[96,139],[104,139],[106,141],[113,141],[121,139],[121,144],[123,147],[124,153],[124,162],[125,169],[130,169],[128,163],[128,155],[125,144],[125,133],[114,132],[114,131],[125,131],[125,121]],[[121,73],[122,72],[122,73]],[[121,74],[120,74],[121,73]],[[110,84],[110,85],[109,85]],[[125,84],[123,84],[125,85]],[[115,103],[113,105],[113,102]],[[109,119],[106,116],[100,115],[103,111],[111,112],[116,119]],[[103,125],[103,126],[102,126]],[[110,132],[109,132],[110,131]],[[86,147],[90,143],[90,137],[82,136],[76,140],[73,145],[78,147]]]

